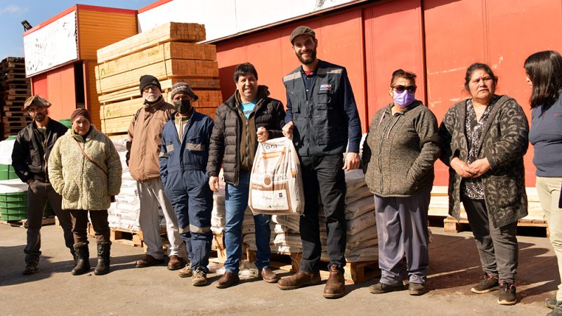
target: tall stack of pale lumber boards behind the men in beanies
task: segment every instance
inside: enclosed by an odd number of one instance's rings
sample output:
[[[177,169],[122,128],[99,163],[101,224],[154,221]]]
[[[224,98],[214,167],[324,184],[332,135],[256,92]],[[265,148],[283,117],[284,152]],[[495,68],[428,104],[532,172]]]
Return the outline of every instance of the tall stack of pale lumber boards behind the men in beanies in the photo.
[[[196,44],[205,39],[203,25],[168,22],[98,50],[96,88],[104,133],[125,133],[131,117],[142,107],[139,78],[159,79],[169,100],[171,86],[187,82],[199,100],[198,112],[214,117],[222,103],[216,48]]]

